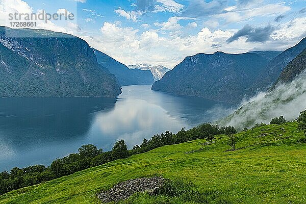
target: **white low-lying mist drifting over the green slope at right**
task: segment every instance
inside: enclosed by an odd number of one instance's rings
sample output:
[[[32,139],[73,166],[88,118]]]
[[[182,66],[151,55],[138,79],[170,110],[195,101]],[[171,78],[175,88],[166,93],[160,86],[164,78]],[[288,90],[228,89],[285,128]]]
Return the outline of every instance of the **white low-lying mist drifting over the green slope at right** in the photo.
[[[259,93],[242,103],[241,108],[217,121],[219,125],[232,125],[238,130],[256,123],[270,123],[283,115],[287,121],[295,120],[306,108],[306,73],[300,74],[290,84],[279,84],[271,92]]]

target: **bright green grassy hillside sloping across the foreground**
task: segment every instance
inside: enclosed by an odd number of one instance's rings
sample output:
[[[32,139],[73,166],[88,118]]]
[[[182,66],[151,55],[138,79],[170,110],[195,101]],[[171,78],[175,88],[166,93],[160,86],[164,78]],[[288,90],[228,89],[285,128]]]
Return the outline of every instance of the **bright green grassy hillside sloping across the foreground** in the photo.
[[[162,175],[188,180],[207,203],[305,203],[306,139],[297,123],[266,125],[227,137],[170,145],[0,196],[0,203],[99,203],[118,182]],[[192,197],[192,196],[191,196]],[[187,196],[136,194],[123,203],[203,203]]]

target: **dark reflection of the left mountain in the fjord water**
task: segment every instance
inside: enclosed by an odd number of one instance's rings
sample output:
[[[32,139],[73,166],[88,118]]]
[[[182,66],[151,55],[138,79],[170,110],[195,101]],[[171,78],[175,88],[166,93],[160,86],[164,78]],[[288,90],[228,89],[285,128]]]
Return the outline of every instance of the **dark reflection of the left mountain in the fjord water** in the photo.
[[[112,110],[114,98],[2,98],[0,139],[27,148],[36,143],[66,142],[84,136],[93,115]]]

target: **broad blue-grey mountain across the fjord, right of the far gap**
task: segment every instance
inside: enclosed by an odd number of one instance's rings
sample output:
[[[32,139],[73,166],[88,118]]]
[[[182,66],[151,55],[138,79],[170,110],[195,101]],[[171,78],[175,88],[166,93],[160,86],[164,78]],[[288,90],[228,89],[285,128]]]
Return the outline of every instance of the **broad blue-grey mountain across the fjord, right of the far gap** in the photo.
[[[152,90],[238,104],[259,72],[279,52],[197,54],[155,82]]]

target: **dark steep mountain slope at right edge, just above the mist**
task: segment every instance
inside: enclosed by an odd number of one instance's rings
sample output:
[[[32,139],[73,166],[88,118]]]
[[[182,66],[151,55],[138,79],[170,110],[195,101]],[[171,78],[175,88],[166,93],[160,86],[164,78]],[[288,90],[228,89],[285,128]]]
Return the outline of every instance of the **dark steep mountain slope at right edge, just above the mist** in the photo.
[[[306,48],[284,68],[281,75],[279,75],[276,84],[290,83],[296,78],[297,75],[299,75],[305,70],[306,70]]]

